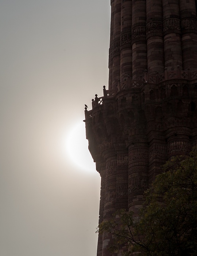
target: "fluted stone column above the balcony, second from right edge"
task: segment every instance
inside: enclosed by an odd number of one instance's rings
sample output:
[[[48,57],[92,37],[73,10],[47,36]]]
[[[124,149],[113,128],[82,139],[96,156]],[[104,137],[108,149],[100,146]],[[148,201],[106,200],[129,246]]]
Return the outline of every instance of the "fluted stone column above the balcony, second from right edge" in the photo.
[[[165,67],[174,70],[179,65],[182,69],[179,0],[163,0],[163,40]]]

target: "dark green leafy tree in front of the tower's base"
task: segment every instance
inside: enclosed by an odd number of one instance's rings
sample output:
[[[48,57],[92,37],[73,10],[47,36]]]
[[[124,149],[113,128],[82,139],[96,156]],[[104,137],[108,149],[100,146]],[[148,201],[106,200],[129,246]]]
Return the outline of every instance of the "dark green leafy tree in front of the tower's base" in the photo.
[[[124,255],[197,255],[197,150],[163,170],[145,192],[139,219],[122,210],[98,226],[115,235],[113,251],[127,244]]]

